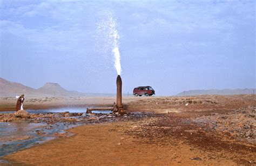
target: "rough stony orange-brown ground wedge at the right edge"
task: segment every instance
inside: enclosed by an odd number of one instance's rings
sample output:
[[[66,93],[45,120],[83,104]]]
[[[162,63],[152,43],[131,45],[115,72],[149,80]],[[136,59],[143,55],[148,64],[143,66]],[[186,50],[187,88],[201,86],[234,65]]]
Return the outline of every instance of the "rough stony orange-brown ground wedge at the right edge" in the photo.
[[[256,142],[254,107],[240,108],[224,114],[211,114],[199,117],[193,122],[214,130],[220,135],[231,136],[233,139]]]

